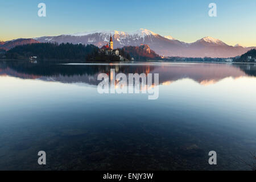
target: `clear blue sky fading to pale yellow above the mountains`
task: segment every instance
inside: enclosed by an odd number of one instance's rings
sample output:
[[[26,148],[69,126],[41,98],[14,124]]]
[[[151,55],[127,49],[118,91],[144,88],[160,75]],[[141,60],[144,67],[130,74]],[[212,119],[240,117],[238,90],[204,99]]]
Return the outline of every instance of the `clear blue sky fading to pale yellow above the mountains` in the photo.
[[[38,4],[46,3],[46,17]],[[209,3],[217,17],[209,17]],[[146,28],[184,42],[212,36],[234,46],[256,46],[255,0],[0,0],[0,40],[94,30]]]

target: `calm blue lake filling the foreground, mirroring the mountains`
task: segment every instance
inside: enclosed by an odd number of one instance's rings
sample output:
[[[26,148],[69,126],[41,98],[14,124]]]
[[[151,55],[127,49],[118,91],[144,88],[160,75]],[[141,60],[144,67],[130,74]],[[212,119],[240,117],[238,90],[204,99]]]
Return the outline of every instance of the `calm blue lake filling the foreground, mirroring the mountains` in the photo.
[[[256,64],[67,63],[0,61],[1,170],[250,169]],[[110,69],[159,73],[159,98],[98,93]]]

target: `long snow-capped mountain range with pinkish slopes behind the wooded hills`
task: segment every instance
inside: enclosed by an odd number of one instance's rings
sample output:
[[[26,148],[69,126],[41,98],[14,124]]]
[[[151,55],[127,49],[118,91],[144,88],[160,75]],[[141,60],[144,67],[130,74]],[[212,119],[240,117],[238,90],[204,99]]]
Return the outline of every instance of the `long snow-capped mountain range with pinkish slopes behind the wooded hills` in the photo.
[[[221,40],[205,37],[193,43],[185,43],[172,38],[172,36],[161,36],[150,30],[141,28],[135,32],[123,31],[93,31],[80,32],[76,34],[65,34],[59,36],[43,36],[33,39],[16,39],[0,44],[2,49],[10,49],[20,44],[31,43],[73,43],[94,44],[105,46],[113,36],[114,48],[123,46],[140,46],[148,44],[152,50],[159,55],[179,57],[236,57],[256,47],[242,47],[240,44],[229,46]],[[24,41],[26,43],[24,43]],[[12,46],[12,43],[15,46]],[[7,45],[7,46],[6,46]],[[6,48],[7,47],[7,48]]]

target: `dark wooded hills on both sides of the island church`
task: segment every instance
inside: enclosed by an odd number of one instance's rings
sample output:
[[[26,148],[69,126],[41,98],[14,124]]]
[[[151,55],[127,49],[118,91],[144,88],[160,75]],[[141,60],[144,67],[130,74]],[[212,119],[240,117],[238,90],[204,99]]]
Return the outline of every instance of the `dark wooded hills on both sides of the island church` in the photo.
[[[133,60],[132,58],[135,61],[160,59],[147,45],[127,46],[118,50],[125,61]],[[35,43],[16,46],[7,52],[2,51],[0,59],[7,60],[28,60],[36,56],[38,60],[120,61],[119,56],[106,55],[92,44],[85,46],[71,43]]]

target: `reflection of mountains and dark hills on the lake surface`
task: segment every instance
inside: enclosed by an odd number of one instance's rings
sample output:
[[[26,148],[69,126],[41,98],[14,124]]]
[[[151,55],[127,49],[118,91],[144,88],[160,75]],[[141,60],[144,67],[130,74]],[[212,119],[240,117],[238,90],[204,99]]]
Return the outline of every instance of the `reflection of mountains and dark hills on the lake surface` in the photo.
[[[191,78],[201,85],[211,85],[226,77],[256,76],[256,64],[180,64],[180,63],[131,63],[83,64],[63,61],[0,61],[0,76],[13,76],[63,83],[98,85],[97,75],[115,69],[116,73],[159,73],[159,84]]]

